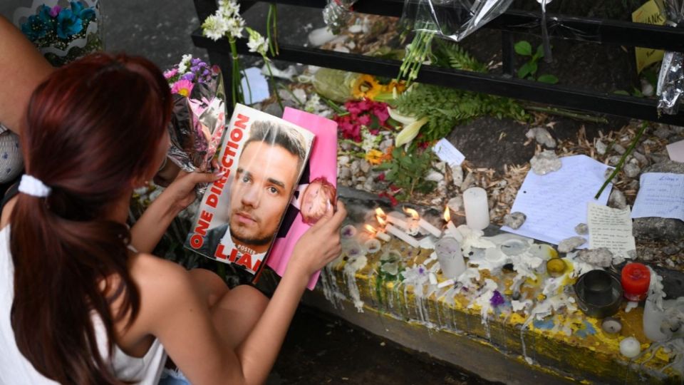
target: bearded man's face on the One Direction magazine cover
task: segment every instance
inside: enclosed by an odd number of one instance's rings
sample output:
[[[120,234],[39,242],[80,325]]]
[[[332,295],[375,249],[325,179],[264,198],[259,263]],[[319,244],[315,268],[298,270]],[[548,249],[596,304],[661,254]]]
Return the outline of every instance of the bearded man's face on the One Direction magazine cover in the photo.
[[[279,145],[251,142],[242,150],[230,194],[234,240],[264,252],[275,236],[298,175],[299,158]]]

